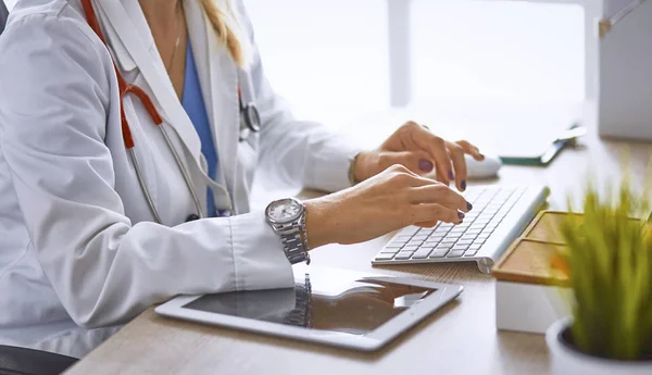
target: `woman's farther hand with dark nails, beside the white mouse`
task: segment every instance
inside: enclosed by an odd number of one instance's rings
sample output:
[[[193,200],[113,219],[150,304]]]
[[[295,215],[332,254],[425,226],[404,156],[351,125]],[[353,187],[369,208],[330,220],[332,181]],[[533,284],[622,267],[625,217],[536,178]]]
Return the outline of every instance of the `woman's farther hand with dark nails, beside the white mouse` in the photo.
[[[464,154],[481,161],[478,148],[465,140],[450,142],[437,137],[415,122],[408,122],[392,134],[379,148],[360,153],[355,161],[355,179],[365,180],[393,164],[426,175],[435,168],[437,180],[449,185],[455,180],[457,189],[466,189],[466,161]],[[451,163],[452,162],[452,163]]]

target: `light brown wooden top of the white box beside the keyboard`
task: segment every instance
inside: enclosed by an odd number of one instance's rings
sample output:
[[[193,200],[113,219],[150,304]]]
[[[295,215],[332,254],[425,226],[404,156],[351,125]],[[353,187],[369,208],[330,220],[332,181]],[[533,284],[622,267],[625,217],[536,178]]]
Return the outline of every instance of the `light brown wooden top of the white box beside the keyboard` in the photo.
[[[496,263],[491,270],[493,277],[514,283],[567,285],[567,277],[551,266],[555,250],[566,246],[559,228],[567,215],[581,216],[541,211]]]

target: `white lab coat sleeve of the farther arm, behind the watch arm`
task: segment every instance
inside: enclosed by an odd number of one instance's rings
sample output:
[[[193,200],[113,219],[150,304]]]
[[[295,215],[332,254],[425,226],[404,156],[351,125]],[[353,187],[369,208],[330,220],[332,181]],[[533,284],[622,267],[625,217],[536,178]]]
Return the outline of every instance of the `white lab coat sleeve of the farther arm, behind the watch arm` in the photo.
[[[350,159],[362,148],[352,138],[322,124],[293,117],[287,102],[274,92],[265,78],[253,28],[243,5],[240,10],[253,45],[249,67],[262,118],[261,164],[290,184],[299,183],[325,191],[349,187]]]

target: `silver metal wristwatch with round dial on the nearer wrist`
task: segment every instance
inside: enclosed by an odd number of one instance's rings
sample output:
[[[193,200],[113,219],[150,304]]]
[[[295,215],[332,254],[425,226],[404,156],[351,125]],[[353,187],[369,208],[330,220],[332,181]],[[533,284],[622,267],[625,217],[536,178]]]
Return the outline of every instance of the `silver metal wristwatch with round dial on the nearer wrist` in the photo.
[[[265,217],[274,232],[280,236],[290,264],[300,262],[310,264],[305,205],[294,198],[279,199],[267,205]]]

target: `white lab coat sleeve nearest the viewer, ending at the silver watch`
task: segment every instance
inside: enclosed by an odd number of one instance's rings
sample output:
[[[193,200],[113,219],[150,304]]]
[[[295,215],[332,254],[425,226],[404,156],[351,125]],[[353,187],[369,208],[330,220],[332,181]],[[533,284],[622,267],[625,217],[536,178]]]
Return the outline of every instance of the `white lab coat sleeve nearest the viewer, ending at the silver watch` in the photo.
[[[106,50],[84,25],[55,16],[15,20],[5,33],[0,161],[15,187],[27,251],[78,325],[124,323],[176,295],[293,285],[262,212],[133,225],[103,141],[116,86]]]

